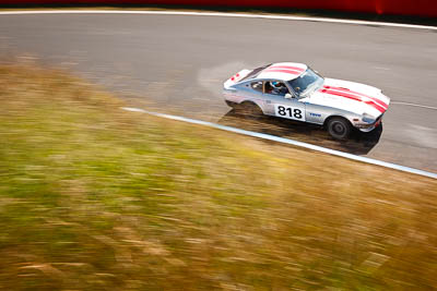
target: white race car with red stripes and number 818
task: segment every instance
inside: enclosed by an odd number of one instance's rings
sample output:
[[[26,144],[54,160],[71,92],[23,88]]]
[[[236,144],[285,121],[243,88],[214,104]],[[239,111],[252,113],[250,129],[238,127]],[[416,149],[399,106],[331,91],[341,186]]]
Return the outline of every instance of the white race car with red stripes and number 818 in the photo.
[[[241,70],[224,83],[223,94],[236,110],[320,124],[338,140],[352,128],[373,131],[390,104],[376,87],[324,78],[294,62]]]

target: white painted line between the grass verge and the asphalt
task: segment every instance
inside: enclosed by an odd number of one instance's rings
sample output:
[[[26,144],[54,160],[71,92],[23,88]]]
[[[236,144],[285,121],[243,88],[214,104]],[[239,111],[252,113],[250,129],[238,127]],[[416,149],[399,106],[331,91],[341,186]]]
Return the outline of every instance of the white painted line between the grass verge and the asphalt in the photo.
[[[273,142],[277,142],[277,143],[282,143],[282,144],[288,144],[288,145],[293,145],[293,146],[304,147],[304,148],[308,148],[311,150],[316,150],[316,151],[320,151],[320,153],[324,153],[324,154],[329,154],[329,155],[333,155],[333,156],[338,156],[338,157],[343,157],[343,158],[351,159],[351,160],[357,160],[357,161],[376,165],[376,166],[381,166],[381,167],[386,167],[386,168],[390,168],[390,169],[394,169],[394,170],[399,170],[399,171],[403,171],[403,172],[409,172],[409,173],[414,173],[414,174],[420,174],[420,175],[437,179],[437,173],[427,172],[427,171],[423,171],[423,170],[418,170],[418,169],[414,169],[414,168],[409,168],[409,167],[404,167],[404,166],[400,166],[400,165],[395,165],[395,163],[391,163],[391,162],[387,162],[387,161],[382,161],[382,160],[361,157],[361,156],[352,155],[349,153],[343,153],[340,150],[334,150],[334,149],[330,149],[330,148],[326,148],[326,147],[321,147],[321,146],[317,146],[317,145],[311,145],[311,144],[307,144],[307,143],[303,143],[303,142],[298,142],[298,141],[294,141],[294,140],[288,140],[288,138],[284,138],[284,137],[279,137],[279,136],[274,136],[274,135],[270,135],[270,134],[245,131],[245,130],[226,126],[226,125],[221,125],[221,124],[202,121],[202,120],[196,120],[196,119],[190,119],[190,118],[152,112],[152,111],[147,111],[147,110],[144,110],[141,108],[122,107],[121,109],[127,110],[127,111],[132,111],[132,112],[146,113],[150,116],[165,118],[165,119],[172,119],[172,120],[204,125],[204,126],[209,126],[209,128],[213,128],[213,129],[217,129],[217,130],[222,130],[222,131],[234,132],[234,133],[252,136],[252,137],[258,137],[258,138],[262,138],[262,140],[268,140],[268,141],[273,141]]]

